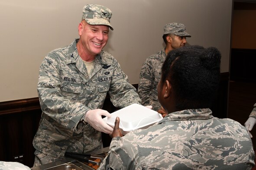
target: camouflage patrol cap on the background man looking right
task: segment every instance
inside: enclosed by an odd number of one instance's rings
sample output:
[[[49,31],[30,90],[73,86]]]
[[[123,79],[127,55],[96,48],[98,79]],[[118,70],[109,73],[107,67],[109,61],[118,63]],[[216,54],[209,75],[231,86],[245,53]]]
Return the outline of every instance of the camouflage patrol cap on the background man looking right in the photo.
[[[170,23],[170,24],[166,24],[164,27],[164,34],[174,34],[174,35],[178,35],[178,36],[186,36],[186,37],[191,37],[191,35],[189,35],[186,32],[186,27],[184,24],[180,24],[180,23]]]

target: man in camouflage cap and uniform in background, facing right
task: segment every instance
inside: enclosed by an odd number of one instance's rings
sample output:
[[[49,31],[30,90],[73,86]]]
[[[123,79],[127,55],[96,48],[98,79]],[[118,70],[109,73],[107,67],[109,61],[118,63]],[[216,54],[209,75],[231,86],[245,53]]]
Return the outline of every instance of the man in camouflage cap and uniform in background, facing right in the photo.
[[[185,25],[180,23],[165,25],[162,37],[165,42],[165,48],[147,58],[140,71],[138,94],[142,105],[151,105],[153,110],[158,111],[163,116],[166,115],[166,112],[159,104],[156,90],[161,77],[161,67],[165,61],[166,54],[176,48],[184,47],[187,43],[187,37],[191,37],[191,35],[186,32]]]

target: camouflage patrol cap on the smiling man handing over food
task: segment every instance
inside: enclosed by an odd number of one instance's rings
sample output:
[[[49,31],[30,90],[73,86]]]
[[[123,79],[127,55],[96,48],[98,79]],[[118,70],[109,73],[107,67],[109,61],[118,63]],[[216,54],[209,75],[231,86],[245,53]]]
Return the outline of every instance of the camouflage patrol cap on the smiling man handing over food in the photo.
[[[111,16],[112,12],[105,6],[87,4],[83,9],[82,20],[85,19],[90,25],[107,25],[113,30],[113,27],[110,25]]]

